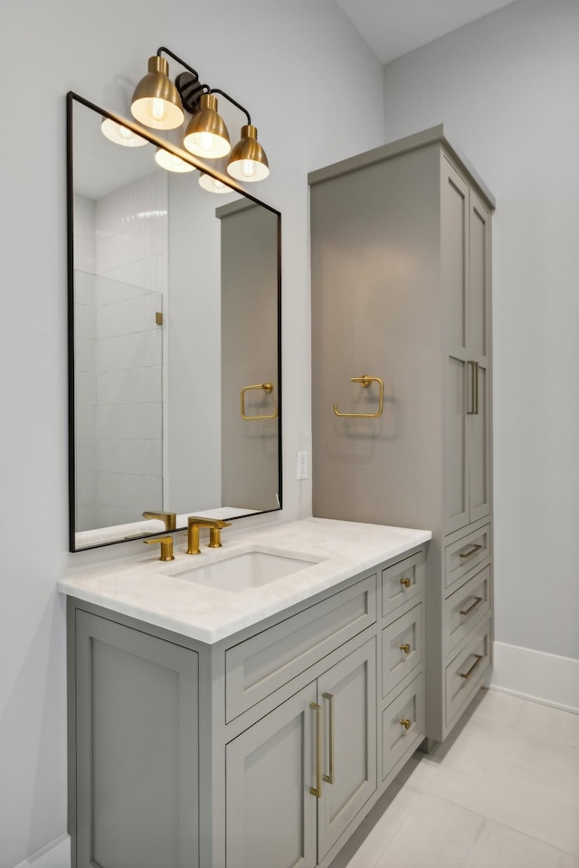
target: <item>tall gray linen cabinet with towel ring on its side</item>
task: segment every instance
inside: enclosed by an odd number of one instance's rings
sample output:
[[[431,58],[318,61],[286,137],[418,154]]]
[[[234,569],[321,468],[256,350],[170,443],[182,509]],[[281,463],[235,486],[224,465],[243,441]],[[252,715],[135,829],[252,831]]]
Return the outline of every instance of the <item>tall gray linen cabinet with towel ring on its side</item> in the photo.
[[[440,741],[491,662],[494,203],[442,127],[309,184],[313,513],[432,531],[426,727]],[[384,382],[382,407],[364,376]],[[483,570],[484,604],[447,605]]]

